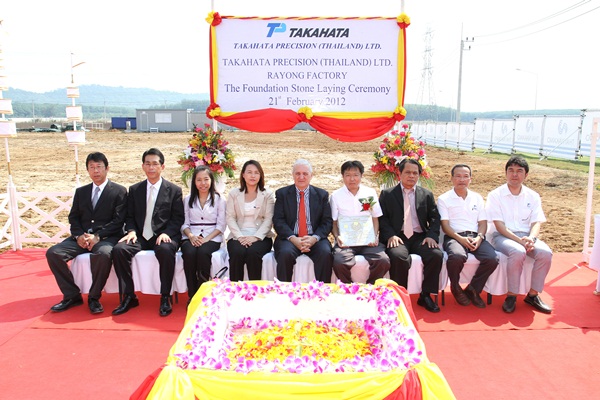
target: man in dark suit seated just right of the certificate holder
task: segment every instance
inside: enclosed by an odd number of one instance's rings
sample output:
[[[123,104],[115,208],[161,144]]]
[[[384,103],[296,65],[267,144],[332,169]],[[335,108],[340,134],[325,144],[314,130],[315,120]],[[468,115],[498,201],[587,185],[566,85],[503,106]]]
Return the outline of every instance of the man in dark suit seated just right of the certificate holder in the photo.
[[[423,285],[417,304],[428,311],[440,308],[430,293],[439,291],[440,271],[444,254],[440,250],[440,214],[433,193],[417,186],[423,167],[412,158],[400,162],[400,183],[385,189],[379,196],[383,215],[379,217],[382,243],[387,243],[390,257],[390,278],[398,285],[408,286],[410,253],[423,260]]]

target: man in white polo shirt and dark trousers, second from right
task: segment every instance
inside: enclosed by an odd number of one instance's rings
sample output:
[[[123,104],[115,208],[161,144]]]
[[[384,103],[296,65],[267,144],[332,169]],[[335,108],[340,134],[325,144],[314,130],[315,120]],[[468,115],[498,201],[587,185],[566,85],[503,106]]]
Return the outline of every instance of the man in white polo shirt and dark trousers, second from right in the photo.
[[[471,167],[457,164],[451,171],[451,190],[438,198],[438,211],[444,236],[444,251],[448,254],[446,269],[450,278],[450,290],[461,306],[473,303],[485,308],[480,293],[489,276],[498,266],[496,251],[485,240],[487,218],[483,197],[469,190]],[[463,290],[460,286],[460,273],[465,266],[468,254],[479,260],[477,272]]]

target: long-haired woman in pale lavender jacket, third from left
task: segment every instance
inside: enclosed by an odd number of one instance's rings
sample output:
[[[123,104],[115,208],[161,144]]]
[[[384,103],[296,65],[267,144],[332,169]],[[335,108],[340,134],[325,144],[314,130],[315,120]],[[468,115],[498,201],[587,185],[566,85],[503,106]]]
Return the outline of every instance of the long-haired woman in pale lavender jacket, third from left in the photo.
[[[215,191],[215,178],[207,166],[194,170],[183,208],[181,253],[191,299],[200,285],[210,279],[212,253],[221,247],[225,231],[225,200]]]

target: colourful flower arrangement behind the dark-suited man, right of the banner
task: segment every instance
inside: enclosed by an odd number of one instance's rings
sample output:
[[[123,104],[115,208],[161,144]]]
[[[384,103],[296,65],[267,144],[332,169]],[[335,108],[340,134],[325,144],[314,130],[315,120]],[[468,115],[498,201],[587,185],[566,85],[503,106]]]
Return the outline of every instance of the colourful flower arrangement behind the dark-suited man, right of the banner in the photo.
[[[371,171],[375,172],[375,180],[380,186],[392,187],[400,181],[398,166],[405,158],[414,158],[423,167],[420,182],[427,187],[433,186],[431,168],[427,164],[425,143],[412,137],[410,126],[402,125],[402,130],[394,130],[383,138],[379,150],[373,154],[375,164]]]

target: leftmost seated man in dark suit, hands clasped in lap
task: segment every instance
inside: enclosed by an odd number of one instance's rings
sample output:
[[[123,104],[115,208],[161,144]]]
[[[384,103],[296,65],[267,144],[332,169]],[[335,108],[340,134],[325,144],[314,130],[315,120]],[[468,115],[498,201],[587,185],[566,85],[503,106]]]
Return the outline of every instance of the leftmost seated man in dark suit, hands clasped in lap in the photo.
[[[104,311],[100,296],[110,274],[111,252],[123,236],[127,189],[107,179],[108,160],[104,154],[88,154],[85,165],[92,183],[75,190],[69,212],[71,237],[46,252],[50,270],[63,293],[63,300],[52,306],[53,312],[66,311],[83,304],[81,291],[67,265],[68,261],[83,253],[91,253],[92,286],[88,306],[92,314]]]

